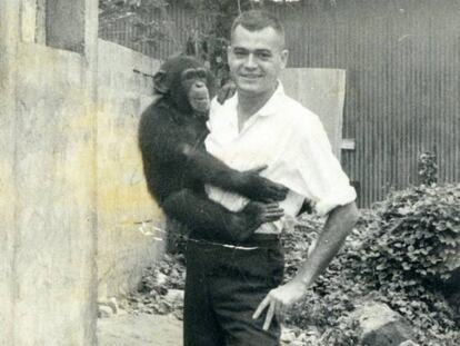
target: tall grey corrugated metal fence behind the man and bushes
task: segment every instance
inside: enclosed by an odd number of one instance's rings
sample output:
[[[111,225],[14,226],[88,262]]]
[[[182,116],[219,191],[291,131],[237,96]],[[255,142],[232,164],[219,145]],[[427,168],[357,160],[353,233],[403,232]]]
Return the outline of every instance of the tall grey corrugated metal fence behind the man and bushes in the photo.
[[[269,10],[286,26],[291,67],[347,70],[343,138],[356,149],[342,164],[360,206],[417,184],[424,150],[437,152],[440,181],[460,181],[460,1],[311,0]],[[172,12],[178,27],[198,24]],[[172,49],[144,52],[164,58]]]

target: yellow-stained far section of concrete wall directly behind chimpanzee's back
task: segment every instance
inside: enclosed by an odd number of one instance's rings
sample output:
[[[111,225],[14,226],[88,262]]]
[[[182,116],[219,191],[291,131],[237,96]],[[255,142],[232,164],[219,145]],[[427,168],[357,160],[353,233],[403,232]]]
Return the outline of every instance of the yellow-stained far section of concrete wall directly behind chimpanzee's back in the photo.
[[[137,145],[141,111],[151,102],[159,61],[99,40],[99,296],[122,296],[161,253],[162,214],[147,192]]]

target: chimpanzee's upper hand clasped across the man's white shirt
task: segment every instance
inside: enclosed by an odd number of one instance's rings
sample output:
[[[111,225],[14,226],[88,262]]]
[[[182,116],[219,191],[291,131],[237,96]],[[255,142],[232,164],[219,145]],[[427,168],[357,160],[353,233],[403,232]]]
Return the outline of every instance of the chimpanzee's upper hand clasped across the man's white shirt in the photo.
[[[241,172],[239,192],[251,200],[272,202],[281,201],[288,194],[288,188],[261,177],[259,174],[267,165]]]

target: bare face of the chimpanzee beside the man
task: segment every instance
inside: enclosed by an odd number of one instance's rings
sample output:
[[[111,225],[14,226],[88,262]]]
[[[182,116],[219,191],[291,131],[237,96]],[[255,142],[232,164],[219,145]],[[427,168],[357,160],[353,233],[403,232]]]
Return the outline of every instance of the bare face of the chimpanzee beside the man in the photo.
[[[204,68],[189,68],[181,73],[182,87],[191,108],[197,112],[207,112],[211,103],[207,80],[208,71]]]

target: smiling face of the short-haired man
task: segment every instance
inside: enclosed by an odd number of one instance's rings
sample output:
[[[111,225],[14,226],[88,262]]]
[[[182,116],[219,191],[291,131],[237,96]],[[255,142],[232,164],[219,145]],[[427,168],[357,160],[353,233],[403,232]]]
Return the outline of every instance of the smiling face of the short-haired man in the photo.
[[[229,47],[230,73],[239,92],[262,96],[273,92],[288,51],[273,28],[249,31],[238,26]]]

